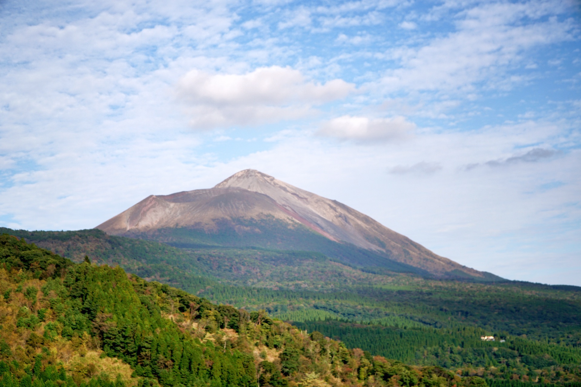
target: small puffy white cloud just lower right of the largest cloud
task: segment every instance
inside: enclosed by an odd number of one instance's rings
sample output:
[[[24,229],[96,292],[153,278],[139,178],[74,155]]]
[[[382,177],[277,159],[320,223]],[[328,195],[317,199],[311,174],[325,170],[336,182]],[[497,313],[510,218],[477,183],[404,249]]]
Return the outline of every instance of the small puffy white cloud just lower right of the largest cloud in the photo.
[[[325,122],[317,133],[342,140],[389,141],[407,138],[414,129],[415,124],[400,115],[375,119],[343,115]]]

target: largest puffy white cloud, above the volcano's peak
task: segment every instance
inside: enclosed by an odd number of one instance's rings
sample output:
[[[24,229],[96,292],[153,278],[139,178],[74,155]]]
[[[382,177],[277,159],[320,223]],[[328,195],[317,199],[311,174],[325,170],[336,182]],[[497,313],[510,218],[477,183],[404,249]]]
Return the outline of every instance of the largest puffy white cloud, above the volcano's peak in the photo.
[[[178,96],[189,106],[196,129],[253,125],[304,117],[312,107],[342,99],[355,86],[342,79],[307,81],[290,67],[260,67],[246,74],[189,71],[178,82]]]

